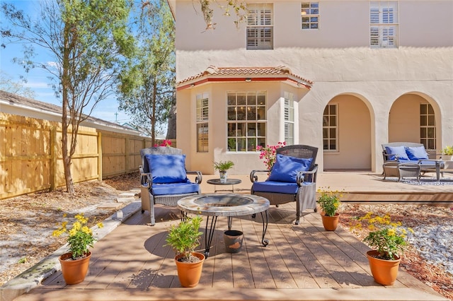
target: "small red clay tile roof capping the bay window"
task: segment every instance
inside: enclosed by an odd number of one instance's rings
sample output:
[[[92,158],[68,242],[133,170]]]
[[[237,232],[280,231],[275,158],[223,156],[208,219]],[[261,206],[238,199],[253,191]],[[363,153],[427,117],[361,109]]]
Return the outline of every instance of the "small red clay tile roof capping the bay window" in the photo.
[[[277,67],[216,67],[209,66],[205,71],[196,74],[195,76],[190,76],[183,79],[177,83],[178,88],[183,88],[185,84],[202,80],[204,78],[244,78],[250,76],[251,78],[264,79],[264,78],[282,78],[283,79],[292,79],[297,83],[305,85],[306,88],[311,88],[313,84],[312,81],[309,81],[301,76],[298,76],[287,67],[287,66],[277,66]]]

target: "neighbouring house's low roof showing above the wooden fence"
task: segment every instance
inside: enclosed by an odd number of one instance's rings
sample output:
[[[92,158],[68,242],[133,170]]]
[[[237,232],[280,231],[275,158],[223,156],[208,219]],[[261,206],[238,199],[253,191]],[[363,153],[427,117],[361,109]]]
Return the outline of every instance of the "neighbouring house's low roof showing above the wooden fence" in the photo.
[[[9,110],[4,109],[4,107],[9,107]],[[32,98],[25,98],[21,95],[8,93],[3,90],[0,90],[0,112],[62,122],[62,107],[34,100]],[[130,127],[121,126],[115,122],[108,122],[96,117],[88,117],[88,119],[82,122],[81,125],[93,127],[95,129],[104,129],[106,131],[116,131],[136,135],[140,134],[139,131],[130,129]]]

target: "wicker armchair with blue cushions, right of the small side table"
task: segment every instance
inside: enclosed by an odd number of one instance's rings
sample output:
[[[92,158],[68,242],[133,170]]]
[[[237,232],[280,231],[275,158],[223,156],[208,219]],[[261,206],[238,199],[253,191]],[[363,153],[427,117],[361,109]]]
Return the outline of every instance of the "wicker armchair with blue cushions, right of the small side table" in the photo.
[[[251,194],[263,196],[275,206],[296,201],[295,224],[299,225],[300,216],[305,209],[314,209],[316,212],[317,153],[318,148],[313,146],[294,145],[277,148],[277,161],[271,171],[252,170]],[[258,182],[258,172],[270,173],[270,176],[265,182]]]

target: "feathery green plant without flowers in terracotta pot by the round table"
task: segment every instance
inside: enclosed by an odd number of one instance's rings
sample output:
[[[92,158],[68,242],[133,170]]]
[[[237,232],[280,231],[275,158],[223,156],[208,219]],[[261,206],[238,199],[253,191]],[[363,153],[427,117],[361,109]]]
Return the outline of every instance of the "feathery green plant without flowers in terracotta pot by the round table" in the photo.
[[[205,255],[195,252],[200,245],[201,216],[185,217],[178,225],[172,225],[166,237],[166,246],[176,253],[175,263],[179,282],[184,288],[193,288],[200,282]]]

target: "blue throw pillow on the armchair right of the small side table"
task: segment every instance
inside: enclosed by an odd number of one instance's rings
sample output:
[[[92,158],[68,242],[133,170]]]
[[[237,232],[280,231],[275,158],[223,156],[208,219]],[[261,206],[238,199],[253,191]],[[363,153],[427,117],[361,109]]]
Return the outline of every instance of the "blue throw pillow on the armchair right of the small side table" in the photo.
[[[313,158],[295,158],[278,154],[268,180],[295,183],[297,182],[299,171],[306,172],[310,170],[311,162],[313,162]]]

